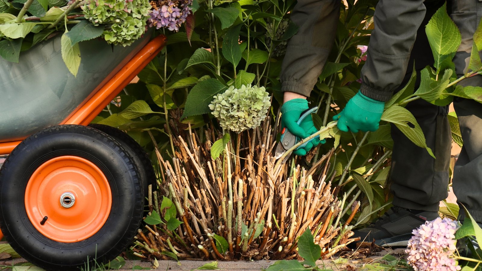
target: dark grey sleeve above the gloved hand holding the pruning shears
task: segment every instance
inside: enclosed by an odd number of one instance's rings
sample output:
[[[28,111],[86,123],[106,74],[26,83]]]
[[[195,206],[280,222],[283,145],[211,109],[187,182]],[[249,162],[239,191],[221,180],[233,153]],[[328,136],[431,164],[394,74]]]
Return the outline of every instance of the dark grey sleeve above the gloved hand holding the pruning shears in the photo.
[[[298,0],[291,20],[300,28],[288,42],[281,91],[309,96],[335,41],[340,0]]]

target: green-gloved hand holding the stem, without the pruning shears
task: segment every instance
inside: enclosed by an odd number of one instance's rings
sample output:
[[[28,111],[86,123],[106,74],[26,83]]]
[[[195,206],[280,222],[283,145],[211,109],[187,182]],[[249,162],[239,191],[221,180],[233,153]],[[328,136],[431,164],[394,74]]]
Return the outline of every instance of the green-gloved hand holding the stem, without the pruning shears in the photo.
[[[384,108],[385,102],[371,99],[359,91],[333,120],[338,121],[338,129],[343,132],[374,132],[378,129]]]

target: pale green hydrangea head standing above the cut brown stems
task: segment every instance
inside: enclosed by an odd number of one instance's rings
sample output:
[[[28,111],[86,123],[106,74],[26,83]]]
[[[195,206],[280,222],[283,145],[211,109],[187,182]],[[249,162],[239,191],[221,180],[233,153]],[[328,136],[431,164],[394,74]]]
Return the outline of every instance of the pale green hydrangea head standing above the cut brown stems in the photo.
[[[269,100],[264,87],[242,85],[237,89],[230,86],[225,93],[214,96],[209,108],[223,129],[239,134],[261,124],[271,106]]]

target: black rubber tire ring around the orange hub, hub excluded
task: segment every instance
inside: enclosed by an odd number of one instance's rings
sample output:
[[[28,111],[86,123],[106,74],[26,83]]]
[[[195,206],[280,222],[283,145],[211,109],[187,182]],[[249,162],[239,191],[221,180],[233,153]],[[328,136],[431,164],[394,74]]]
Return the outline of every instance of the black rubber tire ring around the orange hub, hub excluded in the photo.
[[[112,206],[104,226],[74,243],[49,239],[34,228],[25,208],[26,186],[42,163],[73,155],[98,166],[110,185]],[[134,159],[111,136],[80,125],[44,129],[22,141],[0,172],[0,228],[13,249],[47,270],[78,270],[105,263],[131,244],[143,215],[144,187]],[[88,211],[88,210],[86,210]]]

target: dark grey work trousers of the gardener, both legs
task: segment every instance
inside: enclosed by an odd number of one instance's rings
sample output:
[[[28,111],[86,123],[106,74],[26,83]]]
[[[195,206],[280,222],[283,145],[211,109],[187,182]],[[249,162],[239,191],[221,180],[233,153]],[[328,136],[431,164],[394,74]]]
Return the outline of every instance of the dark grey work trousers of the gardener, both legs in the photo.
[[[412,50],[417,70],[433,64],[433,59],[427,57],[432,54],[425,35],[425,25],[442,4],[443,1],[426,2],[426,18],[418,30]],[[482,2],[453,0],[449,1],[447,10],[462,35],[462,44],[454,58],[456,73],[460,77],[469,65],[472,36],[481,20]],[[482,86],[482,76],[465,79],[459,84]],[[417,87],[418,84],[415,89]],[[422,127],[427,145],[437,159],[430,157],[425,149],[415,146],[392,125],[394,149],[390,176],[393,204],[410,209],[437,211],[439,202],[447,197],[449,182],[451,134],[447,120],[448,108],[437,107],[421,99],[409,103],[406,108],[414,114]],[[455,98],[454,108],[464,140],[453,178],[455,196],[461,208],[459,218],[465,216],[463,204],[478,222],[482,222],[482,104]]]

